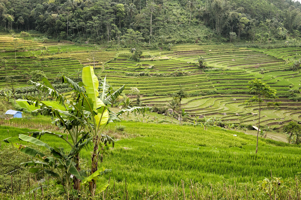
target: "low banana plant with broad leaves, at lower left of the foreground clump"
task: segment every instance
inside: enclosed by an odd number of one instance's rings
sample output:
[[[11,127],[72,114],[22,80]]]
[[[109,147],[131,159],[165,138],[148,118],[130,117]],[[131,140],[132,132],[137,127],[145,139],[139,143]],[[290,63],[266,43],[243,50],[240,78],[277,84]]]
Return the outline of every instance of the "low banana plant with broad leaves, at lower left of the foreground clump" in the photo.
[[[83,180],[87,175],[86,170],[78,171],[76,169],[74,158],[82,148],[85,148],[86,145],[88,145],[88,143],[92,140],[92,137],[89,138],[89,134],[83,134],[70,152],[65,152],[64,148],[51,147],[47,143],[38,139],[45,133],[63,138],[63,135],[45,131],[28,132],[26,134],[18,135],[20,140],[30,142],[39,147],[44,147],[49,152],[44,154],[35,148],[15,143],[14,146],[18,148],[20,152],[33,157],[31,161],[21,164],[23,164],[25,167],[31,166],[29,169],[29,172],[31,173],[37,173],[38,171],[43,170],[49,176],[54,177],[57,180],[56,183],[62,186],[62,189],[66,194],[69,192],[76,192],[75,189],[72,189],[73,180]],[[8,142],[8,139],[9,138],[5,139],[4,141]],[[33,189],[31,192],[44,187],[47,187],[47,185],[39,186]]]

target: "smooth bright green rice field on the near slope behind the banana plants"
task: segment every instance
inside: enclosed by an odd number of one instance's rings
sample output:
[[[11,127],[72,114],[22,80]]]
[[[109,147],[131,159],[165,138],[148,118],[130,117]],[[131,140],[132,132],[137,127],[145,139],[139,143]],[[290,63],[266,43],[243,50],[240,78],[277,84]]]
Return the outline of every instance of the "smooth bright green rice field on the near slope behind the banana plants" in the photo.
[[[118,131],[116,126],[125,126]],[[0,139],[29,131],[1,126]],[[255,155],[255,137],[240,132],[211,127],[191,127],[171,124],[122,122],[111,124],[108,134],[116,139],[115,147],[107,150],[100,165],[112,169],[100,181],[115,183],[120,195],[127,181],[132,199],[148,186],[150,193],[161,189],[172,194],[173,183],[183,180],[189,189],[190,179],[203,185],[216,183],[254,183],[269,177],[294,177],[300,170],[301,148],[271,139],[259,138],[259,152]],[[233,136],[236,134],[237,136]],[[51,136],[42,141],[64,147],[65,143]],[[11,142],[21,142],[11,139]],[[24,142],[21,142],[24,143]],[[1,142],[2,148],[11,144]],[[83,166],[90,164],[90,151],[82,151]],[[3,171],[3,174],[8,173]],[[33,178],[33,177],[32,177]],[[113,190],[113,184],[110,186]]]

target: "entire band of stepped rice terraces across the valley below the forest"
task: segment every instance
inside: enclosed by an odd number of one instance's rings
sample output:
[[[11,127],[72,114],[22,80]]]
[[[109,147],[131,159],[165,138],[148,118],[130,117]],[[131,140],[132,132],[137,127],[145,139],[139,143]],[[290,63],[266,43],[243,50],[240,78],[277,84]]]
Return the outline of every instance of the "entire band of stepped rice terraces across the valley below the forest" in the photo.
[[[0,40],[9,37],[1,35]],[[20,45],[21,42],[23,40]],[[55,78],[62,68],[72,74],[84,65],[95,63],[96,73],[107,75],[107,81],[112,86],[126,84],[127,94],[130,87],[137,87],[143,95],[142,101],[148,105],[166,105],[172,93],[181,86],[191,95],[183,100],[183,108],[189,114],[256,125],[258,117],[252,113],[258,110],[255,106],[246,107],[244,102],[251,97],[247,89],[248,81],[258,78],[277,89],[278,101],[282,102],[278,108],[265,108],[262,111],[261,121],[264,125],[281,128],[290,120],[301,120],[301,104],[287,98],[289,89],[301,87],[299,71],[287,70],[292,61],[300,57],[301,48],[258,49],[236,47],[233,44],[175,45],[172,51],[141,48],[143,58],[141,62],[135,62],[129,61],[131,54],[128,48],[98,48],[93,61],[95,46],[92,45],[26,42],[33,47],[29,45],[26,50],[17,52],[17,64],[14,50],[9,48],[1,52],[8,62],[6,69],[0,70],[0,85],[4,84],[1,80],[6,73],[20,75],[23,70],[41,68],[37,67],[37,61],[50,78]],[[0,49],[5,49],[7,43],[0,43]],[[34,56],[29,55],[30,48]],[[156,57],[152,59],[152,56]],[[207,59],[210,69],[197,68],[198,56]],[[259,73],[261,69],[264,74]]]

